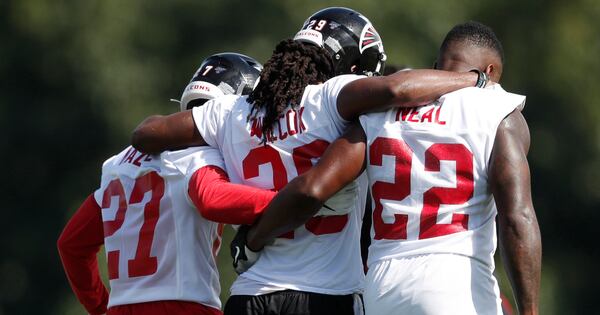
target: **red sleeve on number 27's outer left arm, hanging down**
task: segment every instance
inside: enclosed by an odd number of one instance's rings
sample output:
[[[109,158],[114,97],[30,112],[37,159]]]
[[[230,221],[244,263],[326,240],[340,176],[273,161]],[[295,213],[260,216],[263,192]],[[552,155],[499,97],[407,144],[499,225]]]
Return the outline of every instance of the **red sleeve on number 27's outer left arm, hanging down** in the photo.
[[[104,244],[100,207],[90,195],[58,238],[58,253],[79,302],[90,314],[106,313],[108,291],[100,279],[96,254]]]

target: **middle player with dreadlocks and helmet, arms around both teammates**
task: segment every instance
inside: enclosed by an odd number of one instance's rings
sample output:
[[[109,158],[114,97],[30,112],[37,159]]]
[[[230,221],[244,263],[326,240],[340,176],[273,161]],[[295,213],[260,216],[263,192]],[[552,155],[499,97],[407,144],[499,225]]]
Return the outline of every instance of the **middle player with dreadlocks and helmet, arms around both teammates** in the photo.
[[[134,147],[160,152],[208,144],[223,153],[233,182],[277,190],[310,169],[358,115],[427,103],[474,86],[479,77],[436,70],[367,77],[381,73],[384,61],[381,39],[366,17],[347,8],[321,10],[294,39],[277,45],[249,97],[226,96],[192,112],[150,117],[135,130]],[[337,197],[328,202],[333,210],[321,210],[328,215],[282,232],[264,249],[233,284],[226,314],[362,312],[364,188],[351,185]]]

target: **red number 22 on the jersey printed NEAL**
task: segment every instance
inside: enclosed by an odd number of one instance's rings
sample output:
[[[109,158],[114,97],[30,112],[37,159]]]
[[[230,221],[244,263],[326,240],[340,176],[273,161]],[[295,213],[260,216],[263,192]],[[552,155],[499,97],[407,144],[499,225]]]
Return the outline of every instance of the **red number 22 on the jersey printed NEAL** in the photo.
[[[406,239],[407,214],[394,214],[394,222],[383,221],[381,199],[401,201],[411,194],[413,151],[406,142],[395,138],[377,138],[369,147],[370,164],[382,166],[383,156],[396,159],[394,182],[373,183],[373,229],[375,239]],[[454,213],[450,223],[437,223],[440,205],[460,205],[473,197],[473,153],[460,143],[435,143],[425,151],[425,171],[439,172],[440,161],[456,162],[456,187],[432,187],[423,194],[419,220],[419,239],[448,235],[468,229],[469,216]]]

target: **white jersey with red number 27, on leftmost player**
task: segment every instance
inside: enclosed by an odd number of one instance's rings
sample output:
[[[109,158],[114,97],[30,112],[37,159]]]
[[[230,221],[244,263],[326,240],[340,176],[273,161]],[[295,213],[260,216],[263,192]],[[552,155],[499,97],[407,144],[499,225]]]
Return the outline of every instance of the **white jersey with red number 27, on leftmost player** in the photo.
[[[188,197],[193,173],[224,169],[212,148],[147,155],[128,147],[104,162],[94,193],[102,208],[108,306],[180,300],[219,309],[215,256],[222,226],[203,219]]]

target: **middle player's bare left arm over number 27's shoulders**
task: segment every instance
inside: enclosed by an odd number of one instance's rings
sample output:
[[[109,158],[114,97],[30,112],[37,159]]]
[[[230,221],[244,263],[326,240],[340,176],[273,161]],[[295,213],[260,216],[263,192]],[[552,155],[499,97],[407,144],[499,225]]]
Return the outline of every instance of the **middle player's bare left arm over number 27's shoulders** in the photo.
[[[138,151],[156,154],[165,150],[206,145],[206,142],[196,128],[192,111],[186,110],[146,118],[133,131],[131,144]]]

